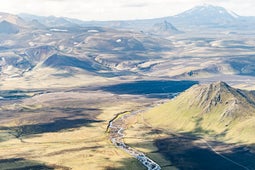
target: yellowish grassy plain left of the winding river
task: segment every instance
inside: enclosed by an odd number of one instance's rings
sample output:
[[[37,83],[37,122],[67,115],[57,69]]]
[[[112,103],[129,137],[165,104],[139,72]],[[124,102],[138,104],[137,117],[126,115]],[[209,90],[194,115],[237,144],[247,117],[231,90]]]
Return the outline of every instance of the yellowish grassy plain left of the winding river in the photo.
[[[109,141],[106,127],[115,114],[151,101],[71,89],[2,103],[0,166],[141,169],[134,158]]]

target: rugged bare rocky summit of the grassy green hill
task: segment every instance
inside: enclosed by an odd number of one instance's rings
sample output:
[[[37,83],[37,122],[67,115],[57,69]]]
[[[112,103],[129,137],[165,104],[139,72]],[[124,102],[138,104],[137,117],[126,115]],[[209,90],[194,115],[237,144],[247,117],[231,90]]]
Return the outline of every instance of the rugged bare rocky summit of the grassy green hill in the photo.
[[[255,96],[250,92],[234,89],[224,82],[195,86],[186,93],[195,96],[189,107],[198,107],[201,114],[214,112],[223,107],[220,120],[237,119],[251,114],[255,106]],[[241,111],[241,112],[240,112]]]

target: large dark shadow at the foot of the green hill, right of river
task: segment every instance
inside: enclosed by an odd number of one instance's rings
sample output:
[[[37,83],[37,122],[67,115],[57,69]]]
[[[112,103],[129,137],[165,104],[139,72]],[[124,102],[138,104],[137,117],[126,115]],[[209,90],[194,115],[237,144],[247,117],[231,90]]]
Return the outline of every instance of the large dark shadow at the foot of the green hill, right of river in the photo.
[[[214,152],[208,144],[213,148],[221,148],[221,151]],[[236,146],[216,141],[208,144],[199,142],[199,138],[191,134],[172,135],[155,141],[157,152],[180,170],[255,169],[255,154],[249,150],[251,146]]]

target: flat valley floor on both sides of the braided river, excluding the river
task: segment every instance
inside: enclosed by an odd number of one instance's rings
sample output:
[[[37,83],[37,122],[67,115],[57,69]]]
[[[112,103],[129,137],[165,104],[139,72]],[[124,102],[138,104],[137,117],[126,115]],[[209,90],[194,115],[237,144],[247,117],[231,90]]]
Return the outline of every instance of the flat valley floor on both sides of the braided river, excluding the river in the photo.
[[[109,121],[117,113],[148,109],[163,99],[158,103],[161,104],[196,83],[139,81],[98,88],[6,90],[0,103],[0,167],[3,170],[144,169],[134,157],[111,143],[106,132]],[[139,88],[143,85],[148,88]],[[253,170],[255,167],[254,145],[158,128],[144,114],[125,119],[123,140],[162,169]]]

